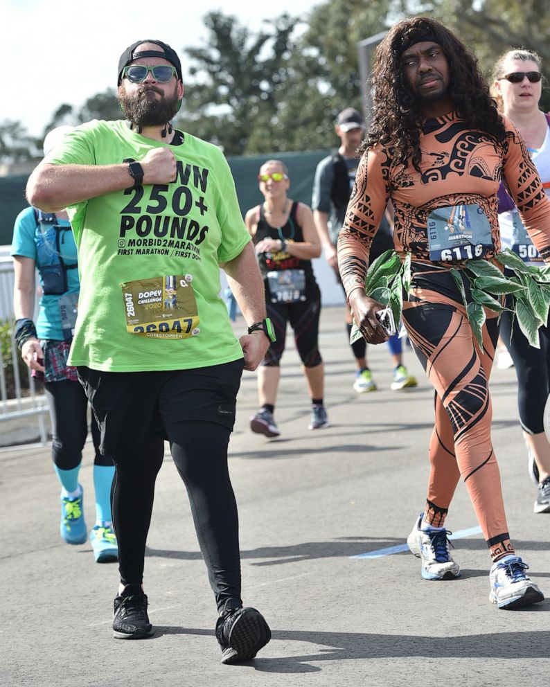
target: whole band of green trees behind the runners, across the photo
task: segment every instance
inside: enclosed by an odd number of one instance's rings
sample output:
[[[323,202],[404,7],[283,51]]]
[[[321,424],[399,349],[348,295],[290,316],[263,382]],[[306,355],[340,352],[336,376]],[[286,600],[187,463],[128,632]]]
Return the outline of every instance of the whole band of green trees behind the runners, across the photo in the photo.
[[[320,150],[337,144],[333,123],[344,107],[362,109],[357,44],[413,15],[454,29],[490,78],[511,47],[540,53],[550,68],[550,12],[545,0],[325,0],[308,15],[284,14],[258,31],[210,12],[201,46],[184,49],[190,78],[177,126],[227,154]],[[550,89],[542,107],[550,110]],[[116,91],[91,96],[80,109],[63,103],[44,127],[116,119]],[[35,141],[17,122],[0,123],[0,159],[35,156]]]

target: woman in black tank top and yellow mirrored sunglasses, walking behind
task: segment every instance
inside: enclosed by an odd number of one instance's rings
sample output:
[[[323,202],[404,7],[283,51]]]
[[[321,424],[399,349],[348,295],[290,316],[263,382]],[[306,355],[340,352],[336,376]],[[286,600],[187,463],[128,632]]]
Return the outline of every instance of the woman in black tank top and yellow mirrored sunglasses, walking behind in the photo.
[[[250,428],[268,437],[279,436],[274,408],[285,350],[287,322],[312,402],[309,429],[328,427],[323,404],[324,368],[319,353],[321,292],[315,281],[312,258],[321,254],[321,244],[311,209],[287,197],[288,170],[279,160],[268,160],[258,174],[263,204],[250,208],[245,224],[256,246],[264,278],[267,316],[272,320],[276,341],[269,346],[258,368],[260,410],[250,418]]]

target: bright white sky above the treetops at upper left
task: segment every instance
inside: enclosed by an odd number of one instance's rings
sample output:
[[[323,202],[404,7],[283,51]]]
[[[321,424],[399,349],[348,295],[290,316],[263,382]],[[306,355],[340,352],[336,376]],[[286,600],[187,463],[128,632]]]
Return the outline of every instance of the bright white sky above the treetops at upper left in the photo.
[[[0,0],[2,73],[0,121],[20,121],[40,136],[63,102],[77,109],[116,87],[118,58],[136,40],[157,38],[174,48],[204,46],[208,12],[235,15],[251,30],[283,12],[305,16],[324,0]],[[195,9],[197,8],[197,9]],[[9,65],[9,66],[8,66]]]

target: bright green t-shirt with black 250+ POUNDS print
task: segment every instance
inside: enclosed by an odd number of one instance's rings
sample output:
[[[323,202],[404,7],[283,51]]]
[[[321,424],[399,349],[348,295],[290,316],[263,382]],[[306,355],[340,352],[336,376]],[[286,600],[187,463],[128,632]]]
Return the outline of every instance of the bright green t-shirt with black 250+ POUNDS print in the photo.
[[[130,372],[242,358],[218,295],[219,264],[236,258],[250,237],[222,152],[190,134],[182,137],[180,145],[170,145],[175,181],[68,208],[80,271],[71,365]],[[166,145],[123,121],[92,121],[69,132],[46,162],[140,161]]]

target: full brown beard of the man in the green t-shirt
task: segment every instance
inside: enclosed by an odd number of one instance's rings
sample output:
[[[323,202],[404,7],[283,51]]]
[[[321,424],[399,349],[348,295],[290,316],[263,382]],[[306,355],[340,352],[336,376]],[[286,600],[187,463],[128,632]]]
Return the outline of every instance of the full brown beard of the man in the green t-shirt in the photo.
[[[125,118],[141,128],[168,123],[179,109],[178,100],[177,84],[168,96],[156,86],[144,86],[131,95],[125,92],[122,85],[118,87],[118,103]]]

